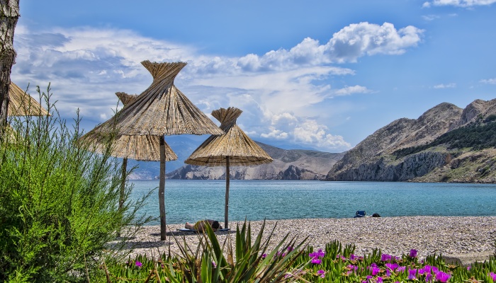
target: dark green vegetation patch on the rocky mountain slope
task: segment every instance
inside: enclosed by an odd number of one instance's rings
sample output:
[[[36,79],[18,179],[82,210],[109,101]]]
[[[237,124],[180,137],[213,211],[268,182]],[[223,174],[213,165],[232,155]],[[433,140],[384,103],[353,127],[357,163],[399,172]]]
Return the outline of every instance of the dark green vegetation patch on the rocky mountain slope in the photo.
[[[396,158],[402,158],[441,144],[446,144],[448,149],[471,148],[473,150],[480,150],[493,148],[496,146],[495,120],[496,115],[487,116],[485,120],[481,118],[478,122],[442,134],[429,144],[399,149],[393,152],[393,155]]]

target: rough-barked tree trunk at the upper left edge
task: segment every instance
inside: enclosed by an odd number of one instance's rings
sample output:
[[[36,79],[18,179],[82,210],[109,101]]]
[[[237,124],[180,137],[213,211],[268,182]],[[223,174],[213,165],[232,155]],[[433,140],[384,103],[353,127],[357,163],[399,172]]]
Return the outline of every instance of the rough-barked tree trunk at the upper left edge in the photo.
[[[19,18],[19,0],[0,0],[0,138],[7,123],[12,65],[16,64],[13,32]]]

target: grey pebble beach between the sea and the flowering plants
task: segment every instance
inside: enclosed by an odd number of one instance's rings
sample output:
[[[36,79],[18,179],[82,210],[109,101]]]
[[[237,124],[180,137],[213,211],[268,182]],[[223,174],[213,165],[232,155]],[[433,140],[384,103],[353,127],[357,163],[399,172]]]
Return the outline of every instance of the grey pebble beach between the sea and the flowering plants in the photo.
[[[250,221],[252,238],[257,236],[263,221]],[[236,226],[243,222],[229,223],[231,231],[217,232],[218,240],[223,243],[231,237],[234,245]],[[274,229],[275,227],[275,229]],[[180,254],[178,243],[184,240],[196,248],[201,234],[176,231],[184,224],[167,226],[167,240],[160,241],[160,226],[143,226],[128,240],[127,248],[131,258],[147,255],[158,258],[162,253]],[[444,257],[468,258],[470,261],[487,260],[495,253],[496,216],[401,216],[366,217],[342,219],[288,219],[267,220],[264,239],[274,229],[271,247],[276,246],[287,233],[295,237],[297,243],[303,241],[315,249],[324,248],[326,243],[337,240],[343,245],[356,246],[356,255],[371,253],[380,248],[382,253],[402,255],[411,249],[418,252],[419,258],[426,255],[442,254]],[[125,235],[123,235],[125,236]],[[183,240],[184,238],[184,240]]]

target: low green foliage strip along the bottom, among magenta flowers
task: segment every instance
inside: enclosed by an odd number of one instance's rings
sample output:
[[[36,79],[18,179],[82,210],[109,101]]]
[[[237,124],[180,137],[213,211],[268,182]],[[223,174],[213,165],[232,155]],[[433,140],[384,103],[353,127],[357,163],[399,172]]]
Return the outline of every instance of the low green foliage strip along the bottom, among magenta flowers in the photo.
[[[239,231],[239,230],[238,230]],[[206,240],[207,237],[203,238]],[[208,236],[210,240],[210,236]],[[216,240],[214,240],[216,241]],[[242,238],[237,238],[242,246]],[[185,248],[187,247],[184,243]],[[244,255],[252,254],[248,250]],[[303,247],[304,252],[281,253],[280,248],[289,247],[279,244],[272,252],[264,257],[258,254],[253,258],[260,267],[248,264],[246,257],[237,258],[239,263],[232,262],[229,246],[223,246],[224,258],[227,265],[219,265],[223,255],[215,256],[212,247],[205,241],[198,244],[194,252],[182,254],[181,257],[162,256],[159,260],[149,259],[138,255],[135,260],[128,260],[125,264],[113,262],[105,266],[107,282],[445,282],[436,279],[436,273],[441,272],[449,276],[448,282],[493,282],[491,272],[496,270],[495,258],[485,262],[474,262],[472,265],[446,265],[441,255],[428,255],[424,260],[416,256],[401,255],[399,257],[384,255],[381,250],[375,249],[365,256],[354,255],[354,246],[342,248],[341,243],[332,241],[325,250],[317,253],[320,262],[312,262],[310,255],[314,252],[311,246]],[[191,248],[191,247],[190,247]],[[225,250],[224,248],[227,248]],[[261,248],[261,247],[259,247]],[[189,248],[188,248],[189,249]],[[286,251],[288,249],[286,248]],[[262,254],[263,255],[263,254]],[[286,263],[279,265],[286,259]],[[215,262],[215,263],[214,263]],[[234,265],[239,265],[235,267]],[[250,272],[249,267],[257,268],[261,273]],[[267,270],[273,270],[265,273]],[[239,276],[240,274],[249,277]],[[494,273],[493,273],[494,274]],[[412,277],[415,277],[413,279]],[[381,277],[381,280],[379,279]],[[104,281],[105,279],[101,280]],[[478,281],[476,281],[478,280]]]

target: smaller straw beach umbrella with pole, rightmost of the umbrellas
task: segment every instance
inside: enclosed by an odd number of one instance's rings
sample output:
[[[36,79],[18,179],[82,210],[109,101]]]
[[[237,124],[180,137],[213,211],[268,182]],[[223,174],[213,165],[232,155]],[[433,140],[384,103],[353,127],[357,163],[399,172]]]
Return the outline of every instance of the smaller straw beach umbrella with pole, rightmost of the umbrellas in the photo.
[[[272,162],[271,156],[236,125],[241,113],[242,110],[234,107],[214,110],[212,116],[220,121],[220,129],[224,134],[210,136],[184,161],[199,166],[225,166],[225,228],[229,228],[229,166],[253,166]]]

